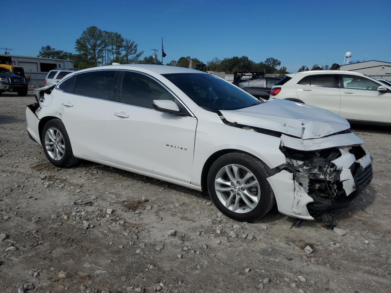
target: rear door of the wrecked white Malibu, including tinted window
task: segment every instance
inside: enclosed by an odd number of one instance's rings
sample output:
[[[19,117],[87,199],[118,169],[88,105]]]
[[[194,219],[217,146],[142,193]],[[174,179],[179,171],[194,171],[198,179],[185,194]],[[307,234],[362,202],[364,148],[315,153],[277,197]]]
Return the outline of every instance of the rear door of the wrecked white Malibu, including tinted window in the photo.
[[[118,70],[95,70],[73,75],[59,85],[59,112],[75,154],[112,161],[115,132],[114,101]],[[74,80],[68,86],[68,80]],[[115,134],[119,135],[117,132]]]

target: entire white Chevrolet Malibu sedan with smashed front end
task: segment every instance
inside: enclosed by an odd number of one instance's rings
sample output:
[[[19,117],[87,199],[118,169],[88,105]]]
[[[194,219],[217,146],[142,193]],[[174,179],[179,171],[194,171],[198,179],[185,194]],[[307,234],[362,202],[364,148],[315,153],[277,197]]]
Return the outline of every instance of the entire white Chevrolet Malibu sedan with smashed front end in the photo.
[[[48,160],[85,159],[208,191],[226,216],[253,221],[274,204],[313,220],[346,207],[372,179],[349,123],[286,100],[259,102],[210,73],[110,65],[36,90],[28,133]]]

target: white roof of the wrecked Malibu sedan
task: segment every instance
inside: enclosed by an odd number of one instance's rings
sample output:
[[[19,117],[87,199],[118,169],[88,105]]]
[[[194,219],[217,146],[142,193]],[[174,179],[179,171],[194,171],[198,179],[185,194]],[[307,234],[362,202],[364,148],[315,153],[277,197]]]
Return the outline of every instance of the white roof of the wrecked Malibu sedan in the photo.
[[[115,65],[106,65],[106,66],[98,66],[93,68],[87,68],[84,70],[79,70],[77,73],[81,73],[83,71],[90,70],[102,70],[102,69],[124,69],[124,70],[150,70],[158,74],[169,74],[169,73],[204,73],[210,74],[207,72],[185,68],[185,67],[177,67],[177,66],[167,66],[167,65],[155,65],[155,64],[115,64]]]

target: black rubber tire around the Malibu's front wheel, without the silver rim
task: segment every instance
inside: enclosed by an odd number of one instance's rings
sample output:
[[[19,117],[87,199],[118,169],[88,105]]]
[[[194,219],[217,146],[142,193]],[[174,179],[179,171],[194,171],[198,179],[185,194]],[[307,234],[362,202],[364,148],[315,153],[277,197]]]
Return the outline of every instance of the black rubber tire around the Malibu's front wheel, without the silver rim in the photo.
[[[265,168],[262,170],[262,168],[260,168],[260,166],[258,165],[259,163],[262,164],[262,162],[260,162],[258,159],[255,159],[249,155],[233,153],[221,156],[215,161],[215,163],[212,164],[208,172],[208,192],[210,198],[212,199],[215,206],[219,209],[219,211],[221,211],[229,218],[241,222],[251,222],[258,218],[261,218],[269,211],[271,200],[274,200],[274,195],[271,186],[267,181],[269,173],[267,173]],[[255,209],[248,213],[240,214],[230,211],[220,202],[219,198],[217,197],[215,191],[215,177],[217,175],[217,172],[219,172],[221,168],[229,164],[238,164],[246,167],[255,175],[258,182],[260,182],[260,201],[258,202],[258,205],[255,207]]]

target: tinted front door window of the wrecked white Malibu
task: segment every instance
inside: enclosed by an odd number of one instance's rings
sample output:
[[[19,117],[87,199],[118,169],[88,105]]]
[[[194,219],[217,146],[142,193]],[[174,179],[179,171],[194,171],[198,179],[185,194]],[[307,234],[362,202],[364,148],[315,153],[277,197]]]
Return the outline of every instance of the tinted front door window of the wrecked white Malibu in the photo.
[[[140,73],[124,71],[121,88],[121,102],[153,109],[153,100],[175,101],[175,98],[167,89],[150,77]]]

